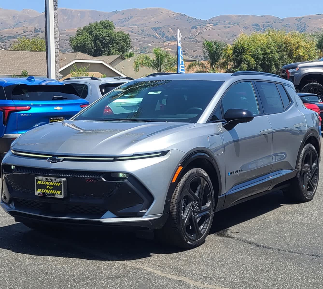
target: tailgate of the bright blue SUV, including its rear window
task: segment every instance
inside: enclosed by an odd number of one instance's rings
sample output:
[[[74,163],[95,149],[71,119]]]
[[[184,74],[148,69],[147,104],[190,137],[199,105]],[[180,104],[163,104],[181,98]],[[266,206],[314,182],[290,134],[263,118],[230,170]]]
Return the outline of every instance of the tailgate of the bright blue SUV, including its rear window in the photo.
[[[13,88],[11,95],[17,108],[30,107],[28,111],[15,112],[18,133],[43,124],[69,119],[88,103],[78,96],[70,84],[21,84]]]

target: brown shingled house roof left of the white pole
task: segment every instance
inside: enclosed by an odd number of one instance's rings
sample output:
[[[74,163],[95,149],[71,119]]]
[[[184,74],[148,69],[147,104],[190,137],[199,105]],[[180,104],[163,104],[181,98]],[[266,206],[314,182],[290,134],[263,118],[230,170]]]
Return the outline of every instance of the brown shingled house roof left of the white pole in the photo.
[[[21,75],[23,70],[34,76],[47,74],[44,51],[0,50],[0,63],[0,75]]]

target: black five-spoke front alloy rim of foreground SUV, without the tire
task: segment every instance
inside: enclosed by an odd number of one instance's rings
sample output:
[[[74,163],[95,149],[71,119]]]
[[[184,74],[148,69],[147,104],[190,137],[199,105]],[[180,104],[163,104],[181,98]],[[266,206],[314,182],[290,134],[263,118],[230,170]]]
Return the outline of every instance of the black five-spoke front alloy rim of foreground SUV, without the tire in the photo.
[[[181,200],[181,225],[186,236],[193,241],[205,233],[212,214],[211,188],[204,176],[198,176],[186,184]]]

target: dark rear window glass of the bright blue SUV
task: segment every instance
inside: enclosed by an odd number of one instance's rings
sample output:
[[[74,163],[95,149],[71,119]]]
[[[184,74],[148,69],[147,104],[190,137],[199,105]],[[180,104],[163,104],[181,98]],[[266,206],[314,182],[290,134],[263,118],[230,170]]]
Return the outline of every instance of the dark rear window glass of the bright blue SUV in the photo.
[[[64,101],[80,99],[73,85],[26,85],[19,84],[12,88],[12,100],[23,101]]]

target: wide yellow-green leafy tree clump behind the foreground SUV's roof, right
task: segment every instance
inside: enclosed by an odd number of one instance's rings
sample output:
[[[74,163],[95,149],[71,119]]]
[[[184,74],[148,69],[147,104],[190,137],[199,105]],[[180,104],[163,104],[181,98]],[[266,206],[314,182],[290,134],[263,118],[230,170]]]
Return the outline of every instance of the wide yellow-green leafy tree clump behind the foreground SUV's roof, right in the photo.
[[[316,43],[309,34],[268,29],[264,33],[240,34],[226,58],[229,72],[278,73],[285,64],[314,60],[317,56]]]

